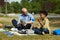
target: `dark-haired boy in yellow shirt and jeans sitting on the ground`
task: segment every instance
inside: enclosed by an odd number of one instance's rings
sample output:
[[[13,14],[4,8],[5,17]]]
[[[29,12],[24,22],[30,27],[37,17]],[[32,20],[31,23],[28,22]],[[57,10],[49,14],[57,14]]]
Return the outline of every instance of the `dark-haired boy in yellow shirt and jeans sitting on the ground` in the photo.
[[[49,34],[50,28],[49,28],[49,20],[47,18],[48,13],[46,11],[40,11],[40,17],[38,19],[39,24],[41,25],[40,28],[34,26],[32,29],[35,31],[36,34]]]

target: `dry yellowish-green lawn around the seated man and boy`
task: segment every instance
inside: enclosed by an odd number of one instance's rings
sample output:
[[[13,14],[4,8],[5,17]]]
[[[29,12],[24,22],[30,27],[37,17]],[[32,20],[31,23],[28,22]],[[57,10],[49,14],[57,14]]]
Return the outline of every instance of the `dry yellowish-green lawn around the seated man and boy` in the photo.
[[[4,25],[12,25],[11,20],[17,17],[0,17],[0,23]],[[51,30],[60,28],[60,18],[49,18]],[[59,35],[35,35],[35,36],[8,36],[0,32],[0,40],[60,40]]]

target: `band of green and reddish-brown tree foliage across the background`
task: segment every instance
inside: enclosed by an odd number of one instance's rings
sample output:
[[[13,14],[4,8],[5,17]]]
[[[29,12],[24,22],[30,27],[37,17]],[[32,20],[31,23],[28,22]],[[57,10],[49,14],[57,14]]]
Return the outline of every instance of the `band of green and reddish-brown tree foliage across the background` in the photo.
[[[50,13],[60,13],[60,0],[22,0],[21,3],[7,3],[8,13],[21,13],[21,9],[26,7],[29,12],[38,13],[40,10],[46,10]],[[2,7],[2,13],[5,13],[5,5]]]

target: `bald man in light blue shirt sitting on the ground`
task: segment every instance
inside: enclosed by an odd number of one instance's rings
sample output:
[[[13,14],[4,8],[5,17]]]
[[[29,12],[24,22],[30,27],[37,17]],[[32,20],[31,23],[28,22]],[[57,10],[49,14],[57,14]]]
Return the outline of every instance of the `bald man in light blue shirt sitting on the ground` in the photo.
[[[22,14],[20,14],[18,22],[15,19],[12,20],[12,24],[18,28],[18,30],[30,29],[33,22],[34,17],[32,14],[28,13],[26,8],[22,8]]]

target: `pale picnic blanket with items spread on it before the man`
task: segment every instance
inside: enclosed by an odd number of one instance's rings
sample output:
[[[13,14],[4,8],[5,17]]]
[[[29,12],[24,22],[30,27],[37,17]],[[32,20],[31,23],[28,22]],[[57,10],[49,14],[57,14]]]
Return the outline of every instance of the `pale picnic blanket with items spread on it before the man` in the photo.
[[[31,30],[31,29],[17,30],[16,28],[12,28],[11,31],[5,31],[4,34],[7,34],[8,36],[13,36],[13,35],[18,35],[18,36],[36,35],[36,34],[34,34],[34,31]]]

